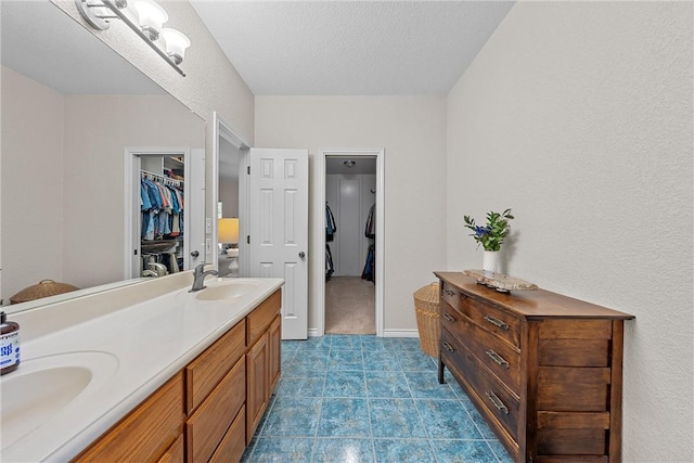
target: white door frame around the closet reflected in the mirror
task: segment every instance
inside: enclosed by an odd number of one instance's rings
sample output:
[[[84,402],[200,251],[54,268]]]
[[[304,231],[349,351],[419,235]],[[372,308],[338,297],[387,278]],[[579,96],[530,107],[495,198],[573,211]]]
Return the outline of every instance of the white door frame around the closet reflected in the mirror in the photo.
[[[140,252],[140,240],[136,239],[136,236],[140,236],[140,216],[133,214],[134,210],[139,210],[140,208],[140,158],[142,156],[152,156],[152,157],[171,157],[171,156],[182,156],[183,159],[190,159],[190,149],[188,147],[127,147],[126,149],[126,167],[125,167],[125,259],[123,262],[123,275],[125,280],[141,278],[141,275],[137,274],[134,270],[134,263],[132,259],[132,249],[138,249],[138,254],[141,256]],[[183,177],[185,179],[191,178],[191,166],[190,163],[184,163],[183,165]],[[183,183],[183,194],[188,196],[190,192],[191,185],[189,181]],[[136,191],[138,192],[136,194]],[[188,208],[183,209],[183,248],[187,250],[184,254],[184,269],[189,267],[189,255],[188,249],[190,249],[190,211]],[[138,256],[138,257],[140,257]]]

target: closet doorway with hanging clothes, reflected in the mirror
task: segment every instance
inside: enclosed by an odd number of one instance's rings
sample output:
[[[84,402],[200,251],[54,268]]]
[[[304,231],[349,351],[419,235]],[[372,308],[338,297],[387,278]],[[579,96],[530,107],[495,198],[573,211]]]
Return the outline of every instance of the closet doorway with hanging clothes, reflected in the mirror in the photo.
[[[126,279],[163,276],[204,259],[204,150],[126,150]],[[146,196],[145,196],[146,195]]]

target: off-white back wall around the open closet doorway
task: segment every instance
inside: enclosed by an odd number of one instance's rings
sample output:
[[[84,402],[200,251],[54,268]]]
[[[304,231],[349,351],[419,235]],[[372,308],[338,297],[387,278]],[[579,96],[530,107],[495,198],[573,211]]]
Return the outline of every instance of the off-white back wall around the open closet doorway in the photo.
[[[446,100],[438,97],[257,97],[256,146],[309,150],[309,329],[324,280],[314,194],[323,149],[385,149],[385,323],[414,330],[412,294],[445,267]],[[439,206],[439,207],[437,207]],[[322,229],[324,233],[324,228]]]

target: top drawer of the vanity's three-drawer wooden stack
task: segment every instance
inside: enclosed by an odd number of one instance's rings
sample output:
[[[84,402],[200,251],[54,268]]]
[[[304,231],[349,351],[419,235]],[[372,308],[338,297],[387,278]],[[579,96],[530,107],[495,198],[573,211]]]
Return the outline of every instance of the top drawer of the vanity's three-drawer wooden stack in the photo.
[[[185,366],[185,412],[192,413],[243,356],[246,321],[242,320]]]

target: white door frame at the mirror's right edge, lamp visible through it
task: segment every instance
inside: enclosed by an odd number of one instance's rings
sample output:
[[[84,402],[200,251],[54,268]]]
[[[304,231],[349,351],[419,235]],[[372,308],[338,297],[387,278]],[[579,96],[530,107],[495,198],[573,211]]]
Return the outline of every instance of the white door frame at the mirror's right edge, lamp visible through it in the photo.
[[[211,214],[208,213],[207,217],[211,218],[211,250],[215,253],[215,257],[209,256],[215,265],[215,269],[218,269],[217,249],[219,247],[219,240],[217,239],[217,204],[219,204],[219,141],[223,139],[231,143],[239,150],[239,164],[240,170],[246,171],[248,167],[248,150],[250,144],[236,133],[230,126],[221,118],[219,113],[213,112],[213,171],[211,171],[211,190],[213,190],[213,203]],[[239,218],[247,217],[248,210],[248,176],[239,175]],[[248,235],[248,223],[246,220],[239,220],[239,276],[248,276],[248,249],[243,236]]]

